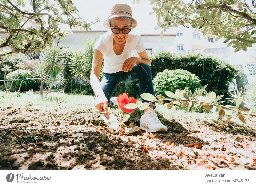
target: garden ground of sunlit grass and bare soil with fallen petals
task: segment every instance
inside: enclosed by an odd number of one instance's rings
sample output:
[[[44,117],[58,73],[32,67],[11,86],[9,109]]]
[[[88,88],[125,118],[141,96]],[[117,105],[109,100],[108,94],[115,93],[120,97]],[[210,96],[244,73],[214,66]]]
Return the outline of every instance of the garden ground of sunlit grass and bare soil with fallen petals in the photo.
[[[256,168],[256,118],[246,124],[231,119],[224,126],[218,112],[188,113],[156,104],[167,133],[111,134],[102,133],[107,126],[93,102],[86,95],[0,92],[1,170]],[[121,114],[117,107],[109,111],[117,118]],[[124,124],[140,126],[142,114],[135,111]]]

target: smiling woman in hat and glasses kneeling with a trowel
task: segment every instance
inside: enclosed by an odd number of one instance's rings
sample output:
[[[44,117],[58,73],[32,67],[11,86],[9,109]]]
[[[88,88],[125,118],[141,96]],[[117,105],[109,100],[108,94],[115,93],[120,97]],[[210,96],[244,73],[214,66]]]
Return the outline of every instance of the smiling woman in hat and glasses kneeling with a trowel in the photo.
[[[154,94],[151,75],[151,63],[138,34],[130,34],[137,26],[132,17],[131,7],[127,4],[116,4],[112,7],[104,27],[110,29],[100,36],[94,45],[92,72],[90,82],[95,94],[94,106],[99,112],[105,112],[108,118],[108,106],[116,105],[116,97],[110,99],[116,87],[126,80],[139,80],[140,94]],[[139,58],[132,57],[136,50]],[[104,57],[104,76],[99,81],[100,68]],[[149,102],[142,99],[142,102]],[[167,131],[155,113],[155,104],[150,103],[140,118],[140,128],[149,132]]]

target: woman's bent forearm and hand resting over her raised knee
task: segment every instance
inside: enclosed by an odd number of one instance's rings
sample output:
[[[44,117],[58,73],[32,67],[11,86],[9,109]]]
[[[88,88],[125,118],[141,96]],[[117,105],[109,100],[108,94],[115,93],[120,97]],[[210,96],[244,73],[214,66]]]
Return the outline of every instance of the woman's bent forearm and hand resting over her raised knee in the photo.
[[[141,63],[145,63],[145,64],[148,64],[149,66],[151,66],[151,61],[148,58],[148,54],[147,54],[146,50],[144,50],[143,52],[138,52],[138,55],[140,58],[131,57],[131,58],[126,59],[123,63],[122,71],[128,72],[129,70],[132,70],[132,67],[135,64],[139,65]]]

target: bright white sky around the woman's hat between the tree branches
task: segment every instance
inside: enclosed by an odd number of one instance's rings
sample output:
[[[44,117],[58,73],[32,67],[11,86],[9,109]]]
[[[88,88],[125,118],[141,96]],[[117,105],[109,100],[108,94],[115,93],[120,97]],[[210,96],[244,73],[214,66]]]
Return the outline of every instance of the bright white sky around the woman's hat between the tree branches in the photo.
[[[73,0],[79,9],[79,15],[86,22],[94,21],[96,17],[100,18],[100,22],[92,25],[92,30],[106,30],[103,26],[104,20],[108,19],[110,8],[117,3],[125,3],[131,6],[132,16],[137,20],[138,25],[134,28],[134,32],[141,34],[160,34],[161,30],[154,30],[157,26],[156,14],[149,15],[152,12],[152,6],[148,0],[141,0],[140,4],[132,4],[133,0]],[[165,34],[168,33],[168,30]]]

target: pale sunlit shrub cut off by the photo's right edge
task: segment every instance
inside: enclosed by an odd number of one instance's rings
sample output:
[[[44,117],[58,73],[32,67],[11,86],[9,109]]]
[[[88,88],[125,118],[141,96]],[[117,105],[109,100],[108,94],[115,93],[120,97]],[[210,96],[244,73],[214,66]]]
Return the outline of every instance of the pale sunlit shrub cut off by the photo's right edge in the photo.
[[[248,90],[244,92],[244,105],[250,109],[256,107],[256,81],[248,86]]]

